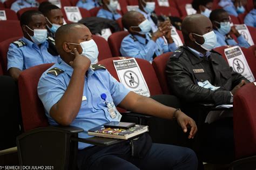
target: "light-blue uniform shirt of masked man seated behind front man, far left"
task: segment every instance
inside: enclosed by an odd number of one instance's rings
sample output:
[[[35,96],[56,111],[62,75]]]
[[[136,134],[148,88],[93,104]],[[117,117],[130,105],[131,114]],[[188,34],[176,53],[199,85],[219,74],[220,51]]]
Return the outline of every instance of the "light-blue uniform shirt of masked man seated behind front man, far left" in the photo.
[[[19,70],[29,69],[32,66],[46,63],[57,63],[59,56],[52,56],[48,52],[48,41],[45,41],[39,47],[29,39],[21,39],[26,45],[17,47],[11,43],[7,53],[7,70],[16,67]]]

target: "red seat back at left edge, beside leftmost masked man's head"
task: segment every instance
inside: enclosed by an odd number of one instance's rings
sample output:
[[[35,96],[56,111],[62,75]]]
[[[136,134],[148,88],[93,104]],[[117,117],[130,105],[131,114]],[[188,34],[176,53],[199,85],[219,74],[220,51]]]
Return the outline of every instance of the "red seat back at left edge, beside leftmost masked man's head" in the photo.
[[[21,26],[19,25],[19,21],[14,20],[0,21],[0,32],[0,42],[12,37],[23,36]]]

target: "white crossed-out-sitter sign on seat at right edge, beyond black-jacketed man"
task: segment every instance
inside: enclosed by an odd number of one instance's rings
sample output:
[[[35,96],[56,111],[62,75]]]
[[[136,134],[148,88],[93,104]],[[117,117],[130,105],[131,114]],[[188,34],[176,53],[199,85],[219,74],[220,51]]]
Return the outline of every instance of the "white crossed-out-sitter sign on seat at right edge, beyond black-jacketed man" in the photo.
[[[255,79],[253,77],[252,71],[248,66],[244,53],[239,46],[233,46],[225,49],[225,56],[228,60],[228,64],[233,67],[233,70],[249,81],[253,82]]]

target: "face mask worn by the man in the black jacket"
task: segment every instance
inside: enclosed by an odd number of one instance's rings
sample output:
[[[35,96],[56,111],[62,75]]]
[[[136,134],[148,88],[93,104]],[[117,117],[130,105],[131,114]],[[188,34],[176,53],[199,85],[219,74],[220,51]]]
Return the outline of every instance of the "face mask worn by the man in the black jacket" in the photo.
[[[197,35],[199,37],[204,37],[204,39],[205,39],[204,44],[199,44],[196,41],[195,41],[195,43],[197,45],[200,45],[203,49],[205,49],[207,51],[211,51],[215,47],[215,45],[217,43],[217,37],[216,37],[216,35],[215,35],[215,33],[213,31],[205,33],[203,36],[198,35],[196,33],[193,33],[193,34]]]

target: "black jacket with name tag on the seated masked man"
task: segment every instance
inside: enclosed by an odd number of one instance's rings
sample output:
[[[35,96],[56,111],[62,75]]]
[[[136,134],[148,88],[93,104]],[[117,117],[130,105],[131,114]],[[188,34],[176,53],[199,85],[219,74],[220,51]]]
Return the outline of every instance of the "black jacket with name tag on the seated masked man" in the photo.
[[[166,65],[171,93],[190,103],[229,104],[230,91],[245,77],[233,71],[218,52],[211,51],[208,59],[200,58],[187,46],[180,46]],[[218,90],[205,89],[198,81],[210,81]]]

